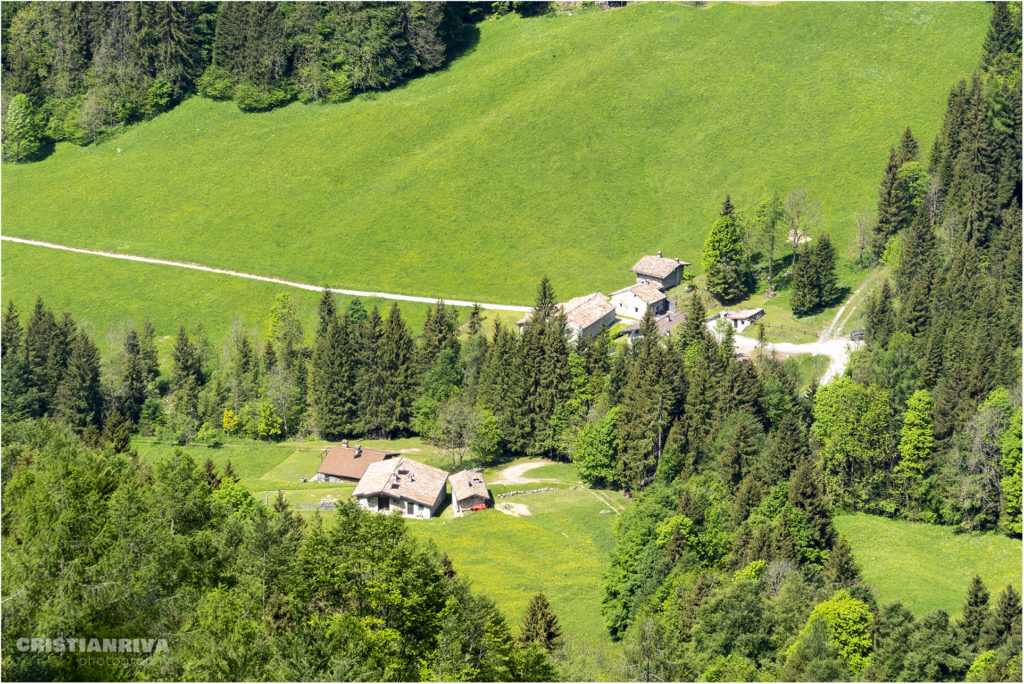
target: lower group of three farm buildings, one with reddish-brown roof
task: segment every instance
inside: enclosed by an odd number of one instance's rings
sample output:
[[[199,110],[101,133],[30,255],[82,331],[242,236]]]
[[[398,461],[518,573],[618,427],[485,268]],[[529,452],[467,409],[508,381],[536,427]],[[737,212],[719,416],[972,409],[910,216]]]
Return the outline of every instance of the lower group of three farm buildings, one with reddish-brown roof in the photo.
[[[355,482],[352,497],[362,508],[379,513],[398,512],[407,518],[437,515],[452,485],[452,506],[457,515],[480,510],[490,493],[478,470],[455,474],[414,461],[398,452],[349,446],[324,451],[315,482]]]

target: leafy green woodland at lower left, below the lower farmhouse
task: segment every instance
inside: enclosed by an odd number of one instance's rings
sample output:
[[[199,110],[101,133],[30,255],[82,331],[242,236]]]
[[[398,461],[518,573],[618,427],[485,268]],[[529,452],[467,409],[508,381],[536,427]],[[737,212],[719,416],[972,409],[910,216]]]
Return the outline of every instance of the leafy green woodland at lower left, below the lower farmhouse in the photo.
[[[5,679],[551,681],[543,594],[516,629],[396,516],[303,519],[52,421],[3,425]],[[59,589],[57,589],[59,588]],[[25,637],[160,638],[164,651],[18,650]]]

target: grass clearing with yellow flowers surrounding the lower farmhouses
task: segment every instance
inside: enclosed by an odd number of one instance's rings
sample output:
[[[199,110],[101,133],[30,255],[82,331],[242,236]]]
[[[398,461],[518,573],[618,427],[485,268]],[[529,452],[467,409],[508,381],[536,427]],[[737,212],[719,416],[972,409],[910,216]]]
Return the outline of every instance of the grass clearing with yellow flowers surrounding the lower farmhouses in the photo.
[[[360,440],[360,443],[401,452],[418,461],[444,467],[443,457],[419,438]],[[154,462],[177,448],[144,437],[135,438],[133,445],[143,459]],[[261,503],[272,503],[280,490],[292,504],[317,504],[327,499],[344,500],[355,488],[352,483],[299,482],[300,477],[308,478],[315,473],[325,445],[315,440],[282,443],[239,440],[220,448],[197,445],[181,448],[197,464],[209,457],[222,468],[229,458],[243,484]],[[488,469],[484,474],[487,476],[508,465]],[[451,470],[451,464],[445,470]],[[622,509],[626,500],[617,491],[601,491],[597,497],[584,487],[569,488],[579,480],[570,464],[542,466],[526,473],[558,481],[490,487],[494,495],[556,487],[556,491],[497,500],[498,505],[512,502],[527,506],[529,517],[488,509],[456,518],[449,505],[439,517],[409,520],[409,527],[447,553],[459,572],[471,580],[478,591],[490,596],[513,626],[521,619],[532,595],[544,591],[566,636],[588,647],[617,652],[618,647],[609,641],[601,617],[602,581],[614,548],[616,516],[602,514],[601,510],[608,509],[606,501]],[[314,515],[313,511],[300,513]]]

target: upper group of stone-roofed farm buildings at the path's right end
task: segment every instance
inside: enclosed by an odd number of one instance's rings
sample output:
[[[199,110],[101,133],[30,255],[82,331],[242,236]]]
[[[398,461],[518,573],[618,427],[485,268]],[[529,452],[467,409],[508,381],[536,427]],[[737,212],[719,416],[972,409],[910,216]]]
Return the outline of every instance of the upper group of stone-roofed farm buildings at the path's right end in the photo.
[[[660,252],[657,255],[648,254],[630,269],[636,274],[633,285],[616,290],[610,296],[595,292],[559,304],[570,336],[593,338],[602,328],[610,328],[622,320],[632,324],[623,331],[632,344],[640,333],[640,319],[650,311],[658,333],[668,337],[686,319],[683,311],[676,310],[676,304],[668,293],[683,282],[683,270],[689,265],[687,261],[662,256]],[[764,309],[756,308],[726,311],[724,315],[733,330],[739,332],[764,313]],[[529,318],[527,313],[516,322],[520,333]]]

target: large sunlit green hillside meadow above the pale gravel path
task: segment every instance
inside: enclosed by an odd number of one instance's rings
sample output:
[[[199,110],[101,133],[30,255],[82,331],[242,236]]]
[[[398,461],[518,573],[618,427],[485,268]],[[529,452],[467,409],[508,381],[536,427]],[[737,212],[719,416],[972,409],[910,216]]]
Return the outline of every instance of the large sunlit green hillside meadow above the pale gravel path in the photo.
[[[803,185],[849,252],[889,145],[909,125],[930,146],[989,12],[652,3],[508,16],[480,25],[447,69],[389,92],[261,115],[193,98],[97,147],[5,166],[3,231],[529,303],[544,273],[569,297],[625,285],[644,252],[696,262],[726,193],[743,208]],[[98,280],[94,263],[59,281],[27,259],[4,265],[20,292],[30,279],[44,295]]]

